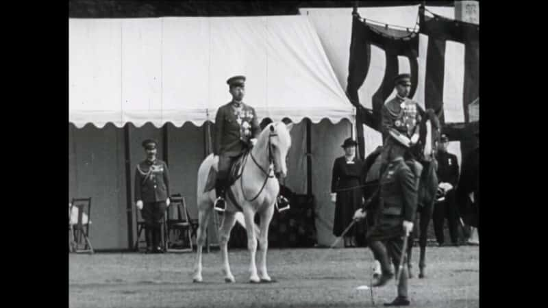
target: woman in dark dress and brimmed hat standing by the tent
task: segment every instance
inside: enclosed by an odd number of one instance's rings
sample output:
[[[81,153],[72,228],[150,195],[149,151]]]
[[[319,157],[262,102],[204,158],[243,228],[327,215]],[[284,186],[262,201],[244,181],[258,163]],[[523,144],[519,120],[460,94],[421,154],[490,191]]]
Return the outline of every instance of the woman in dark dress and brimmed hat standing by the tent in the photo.
[[[342,147],[345,155],[335,159],[331,180],[331,196],[335,202],[333,234],[339,237],[352,222],[356,209],[362,206],[362,159],[356,157],[357,142],[347,138]],[[345,247],[355,247],[356,228],[345,235]]]

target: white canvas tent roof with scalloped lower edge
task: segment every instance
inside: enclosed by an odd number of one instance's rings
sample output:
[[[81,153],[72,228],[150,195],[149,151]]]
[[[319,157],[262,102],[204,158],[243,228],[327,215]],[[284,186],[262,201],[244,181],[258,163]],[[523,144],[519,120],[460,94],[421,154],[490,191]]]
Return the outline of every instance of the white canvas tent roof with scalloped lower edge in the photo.
[[[69,122],[156,127],[214,120],[247,76],[258,116],[314,123],[354,107],[307,16],[69,19]]]

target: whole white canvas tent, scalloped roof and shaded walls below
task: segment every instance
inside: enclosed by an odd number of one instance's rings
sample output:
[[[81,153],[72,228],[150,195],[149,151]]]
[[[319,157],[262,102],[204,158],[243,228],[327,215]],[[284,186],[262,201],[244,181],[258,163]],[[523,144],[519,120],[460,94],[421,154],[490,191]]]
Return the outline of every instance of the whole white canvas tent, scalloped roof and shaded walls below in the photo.
[[[331,168],[355,111],[307,16],[69,20],[69,197],[94,198],[94,247],[132,244],[131,188],[144,138],[160,141],[171,191],[186,196],[197,216],[204,123],[229,101],[227,77],[240,74],[247,76],[244,101],[260,119],[299,123],[285,184],[301,194],[310,184],[316,222],[329,220]],[[312,183],[305,117],[314,123]],[[319,243],[330,244],[330,230],[321,228]]]

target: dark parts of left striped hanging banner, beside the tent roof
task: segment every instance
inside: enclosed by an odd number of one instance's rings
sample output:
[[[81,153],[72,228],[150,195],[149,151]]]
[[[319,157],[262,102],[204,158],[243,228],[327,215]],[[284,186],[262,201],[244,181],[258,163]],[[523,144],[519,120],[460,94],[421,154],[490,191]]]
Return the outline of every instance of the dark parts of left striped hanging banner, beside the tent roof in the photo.
[[[383,49],[386,55],[386,69],[382,84],[371,99],[373,109],[363,107],[358,96],[358,90],[364,84],[371,64],[371,44]],[[359,154],[362,158],[365,153],[361,125],[365,124],[377,131],[381,130],[381,110],[384,102],[394,90],[393,78],[399,73],[399,55],[408,57],[413,84],[410,97],[413,97],[419,76],[417,62],[419,34],[412,29],[398,30],[366,23],[358,14],[353,14],[347,95],[351,103],[358,109],[356,131],[358,132]]]

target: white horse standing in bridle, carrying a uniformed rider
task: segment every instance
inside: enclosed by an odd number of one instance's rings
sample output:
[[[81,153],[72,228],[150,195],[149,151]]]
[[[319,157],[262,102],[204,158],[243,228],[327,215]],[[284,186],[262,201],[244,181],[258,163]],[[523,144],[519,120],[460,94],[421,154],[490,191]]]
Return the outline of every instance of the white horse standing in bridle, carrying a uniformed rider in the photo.
[[[274,203],[279,192],[279,182],[274,174],[286,177],[286,155],[291,146],[291,136],[289,131],[292,124],[271,123],[267,125],[258,137],[257,143],[251,149],[245,162],[242,163],[241,177],[230,188],[238,205],[242,207],[245,218],[245,229],[247,231],[247,248],[251,255],[249,263],[249,281],[259,283],[260,281],[271,281],[268,272],[266,272],[266,251],[268,249],[269,224],[274,214]],[[202,247],[206,242],[206,227],[209,216],[213,209],[216,198],[214,190],[203,192],[210,168],[217,168],[219,157],[210,154],[201,163],[198,170],[198,219],[199,228],[197,233],[197,260],[194,282],[201,282],[201,255]],[[274,170],[273,170],[274,169]],[[236,211],[231,198],[226,198],[227,207],[224,211],[223,222],[219,227],[219,246],[223,257],[223,274],[225,282],[234,282],[234,275],[230,271],[228,263],[227,244],[230,237],[230,231],[236,222]],[[232,206],[230,206],[232,205]],[[256,235],[256,224],[253,222],[255,214],[260,215],[259,234]],[[258,261],[259,270],[255,263],[257,251],[257,240],[259,240],[260,259]]]

